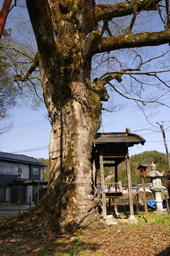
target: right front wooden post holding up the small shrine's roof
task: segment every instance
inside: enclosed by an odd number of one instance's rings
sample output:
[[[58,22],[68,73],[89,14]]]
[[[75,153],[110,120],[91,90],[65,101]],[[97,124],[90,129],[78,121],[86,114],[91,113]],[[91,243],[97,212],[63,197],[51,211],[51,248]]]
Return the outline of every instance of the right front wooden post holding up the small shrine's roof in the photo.
[[[125,157],[125,160],[126,160],[126,172],[127,172],[129,210],[130,210],[130,216],[133,216],[134,213],[133,213],[133,198],[132,198],[132,191],[131,191],[130,161],[127,155]]]

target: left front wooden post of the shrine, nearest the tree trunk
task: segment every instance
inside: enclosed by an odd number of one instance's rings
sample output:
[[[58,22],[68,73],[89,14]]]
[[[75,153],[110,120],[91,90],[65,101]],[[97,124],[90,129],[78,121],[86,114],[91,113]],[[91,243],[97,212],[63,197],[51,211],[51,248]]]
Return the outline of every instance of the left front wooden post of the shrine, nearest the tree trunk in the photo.
[[[99,153],[99,162],[100,162],[100,178],[101,178],[101,195],[102,195],[102,209],[103,209],[103,218],[106,219],[106,202],[105,202],[105,191],[104,191],[104,169],[103,169],[103,157],[102,150]]]

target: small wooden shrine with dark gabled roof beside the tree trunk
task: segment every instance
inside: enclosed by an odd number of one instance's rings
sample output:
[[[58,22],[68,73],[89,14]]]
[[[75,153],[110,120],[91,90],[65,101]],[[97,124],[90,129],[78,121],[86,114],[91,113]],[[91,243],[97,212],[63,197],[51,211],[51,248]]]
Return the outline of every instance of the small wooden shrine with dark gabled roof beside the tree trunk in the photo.
[[[128,148],[133,147],[136,144],[144,145],[145,140],[136,134],[130,134],[130,130],[126,128],[125,133],[97,133],[96,138],[92,140],[92,156],[97,171],[100,170],[101,178],[101,196],[103,207],[103,218],[106,219],[106,201],[105,198],[114,198],[114,210],[117,213],[117,198],[122,197],[121,181],[117,180],[117,166],[125,160],[126,172],[127,172],[127,185],[128,185],[128,197],[129,197],[129,219],[132,222],[134,218],[133,214],[133,202],[131,192],[131,177],[130,177],[130,164]],[[103,163],[103,161],[112,161],[112,163]],[[114,166],[115,168],[115,182],[104,182],[104,166]]]

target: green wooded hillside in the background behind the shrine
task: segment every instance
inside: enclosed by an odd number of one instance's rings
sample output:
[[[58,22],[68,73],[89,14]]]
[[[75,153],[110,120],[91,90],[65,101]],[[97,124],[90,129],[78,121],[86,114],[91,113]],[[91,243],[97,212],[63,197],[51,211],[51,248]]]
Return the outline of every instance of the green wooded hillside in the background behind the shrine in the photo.
[[[47,165],[47,167],[45,167],[43,171],[43,179],[49,180],[49,174],[50,174],[49,160],[43,159],[43,158],[38,158],[37,160]],[[164,153],[159,153],[154,150],[154,151],[145,151],[143,153],[131,156],[130,157],[131,182],[135,184],[141,184],[142,181],[139,176],[139,170],[137,170],[137,167],[141,164],[150,166],[152,162],[156,165],[157,171],[159,172],[168,171],[167,158]],[[117,172],[118,181],[121,181],[122,184],[127,183],[125,162],[122,162],[118,165],[117,171],[118,171]],[[114,182],[114,167],[104,167],[104,178],[107,182]],[[97,182],[100,182],[99,172],[97,173]],[[150,178],[145,178],[145,182],[150,182]]]

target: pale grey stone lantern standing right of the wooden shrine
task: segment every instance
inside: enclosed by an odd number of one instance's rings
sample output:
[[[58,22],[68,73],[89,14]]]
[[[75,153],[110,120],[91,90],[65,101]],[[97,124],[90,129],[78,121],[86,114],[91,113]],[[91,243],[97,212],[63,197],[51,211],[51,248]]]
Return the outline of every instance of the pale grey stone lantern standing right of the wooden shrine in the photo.
[[[159,171],[156,171],[156,165],[152,164],[150,165],[151,171],[148,172],[148,177],[151,178],[152,187],[150,188],[151,191],[154,193],[154,198],[156,202],[156,212],[163,212],[163,206],[162,206],[162,199],[161,199],[161,192],[164,190],[164,187],[161,184],[160,177],[164,176],[164,173],[160,173]]]

